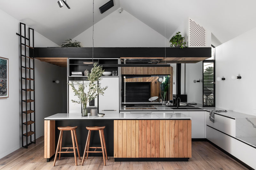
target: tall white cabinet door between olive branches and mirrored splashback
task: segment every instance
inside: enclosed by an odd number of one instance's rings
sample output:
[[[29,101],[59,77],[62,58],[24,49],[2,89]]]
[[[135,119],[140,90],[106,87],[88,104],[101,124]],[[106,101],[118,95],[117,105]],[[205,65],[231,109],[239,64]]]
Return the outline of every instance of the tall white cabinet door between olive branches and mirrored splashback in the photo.
[[[108,88],[99,96],[99,113],[119,113],[119,77],[103,77],[100,84]]]

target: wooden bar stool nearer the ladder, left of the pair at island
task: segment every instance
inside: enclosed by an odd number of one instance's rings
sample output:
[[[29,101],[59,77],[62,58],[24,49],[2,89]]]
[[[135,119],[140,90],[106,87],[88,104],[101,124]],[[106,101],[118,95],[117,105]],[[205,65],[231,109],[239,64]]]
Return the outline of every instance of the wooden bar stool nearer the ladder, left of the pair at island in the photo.
[[[71,126],[67,126],[67,127],[58,127],[58,129],[60,130],[60,137],[59,137],[58,144],[57,144],[57,149],[56,149],[56,153],[55,153],[55,158],[54,158],[53,166],[55,166],[58,153],[59,153],[59,160],[60,160],[60,153],[74,153],[75,162],[76,162],[76,166],[77,166],[76,149],[77,149],[77,152],[78,152],[78,157],[79,157],[79,159],[80,159],[80,153],[79,153],[79,147],[78,147],[77,137],[76,137],[76,128],[77,128],[77,126],[75,126],[75,127],[71,127]],[[61,144],[62,144],[62,135],[63,135],[63,131],[64,131],[64,130],[70,130],[70,131],[71,131],[71,137],[72,137],[73,147],[63,147],[63,148],[61,147]],[[75,137],[74,137],[74,136],[75,136]],[[76,145],[75,145],[75,140],[76,140]],[[60,151],[58,152],[59,148],[60,148]],[[67,149],[67,150],[61,152],[61,149]],[[68,151],[69,149],[73,149],[73,151]]]

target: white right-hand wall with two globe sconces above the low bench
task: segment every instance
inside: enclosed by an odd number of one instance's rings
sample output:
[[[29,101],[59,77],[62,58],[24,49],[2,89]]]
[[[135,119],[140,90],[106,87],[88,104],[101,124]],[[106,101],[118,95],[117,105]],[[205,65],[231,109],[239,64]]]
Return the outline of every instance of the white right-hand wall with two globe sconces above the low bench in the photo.
[[[216,107],[253,115],[256,109],[255,39],[256,28],[253,28],[215,48],[216,77],[226,78],[216,81]],[[242,79],[231,80],[232,75],[241,75]]]

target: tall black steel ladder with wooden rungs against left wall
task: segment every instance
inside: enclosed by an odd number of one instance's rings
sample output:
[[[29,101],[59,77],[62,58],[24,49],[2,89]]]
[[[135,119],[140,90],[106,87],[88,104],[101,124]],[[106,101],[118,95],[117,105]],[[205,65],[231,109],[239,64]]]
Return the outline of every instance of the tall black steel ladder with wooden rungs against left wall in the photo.
[[[20,33],[16,34],[20,36],[21,140],[24,148],[36,143],[34,29],[28,28],[28,38],[26,30],[26,24],[20,22]],[[25,110],[23,110],[23,105],[25,105]],[[25,114],[25,122],[23,114]],[[23,126],[26,127],[26,133],[24,133]],[[34,141],[32,141],[33,135]],[[28,142],[28,137],[30,142]],[[26,144],[24,144],[24,138]]]

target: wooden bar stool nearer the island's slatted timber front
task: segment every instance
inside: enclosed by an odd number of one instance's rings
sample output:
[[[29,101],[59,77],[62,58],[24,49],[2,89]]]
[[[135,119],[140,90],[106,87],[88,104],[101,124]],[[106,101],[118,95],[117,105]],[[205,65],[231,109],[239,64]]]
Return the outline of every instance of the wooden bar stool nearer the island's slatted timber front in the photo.
[[[108,155],[107,155],[107,148],[106,148],[106,142],[105,142],[105,136],[104,136],[104,130],[103,130],[103,129],[105,129],[105,126],[102,126],[102,127],[100,127],[100,126],[93,126],[93,127],[87,126],[86,129],[89,130],[89,132],[88,132],[88,136],[87,136],[87,140],[86,140],[86,144],[85,144],[85,148],[84,148],[84,156],[83,156],[83,159],[82,159],[82,165],[84,164],[85,153],[86,153],[86,159],[88,159],[88,153],[100,153],[100,152],[102,152],[104,165],[106,166],[106,159],[108,160]],[[99,130],[101,147],[89,147],[92,130]],[[93,148],[95,150],[94,151],[89,151],[89,148]],[[101,148],[102,151],[96,151],[97,149],[100,149],[100,148]],[[106,155],[106,159],[105,159],[105,155]]]

